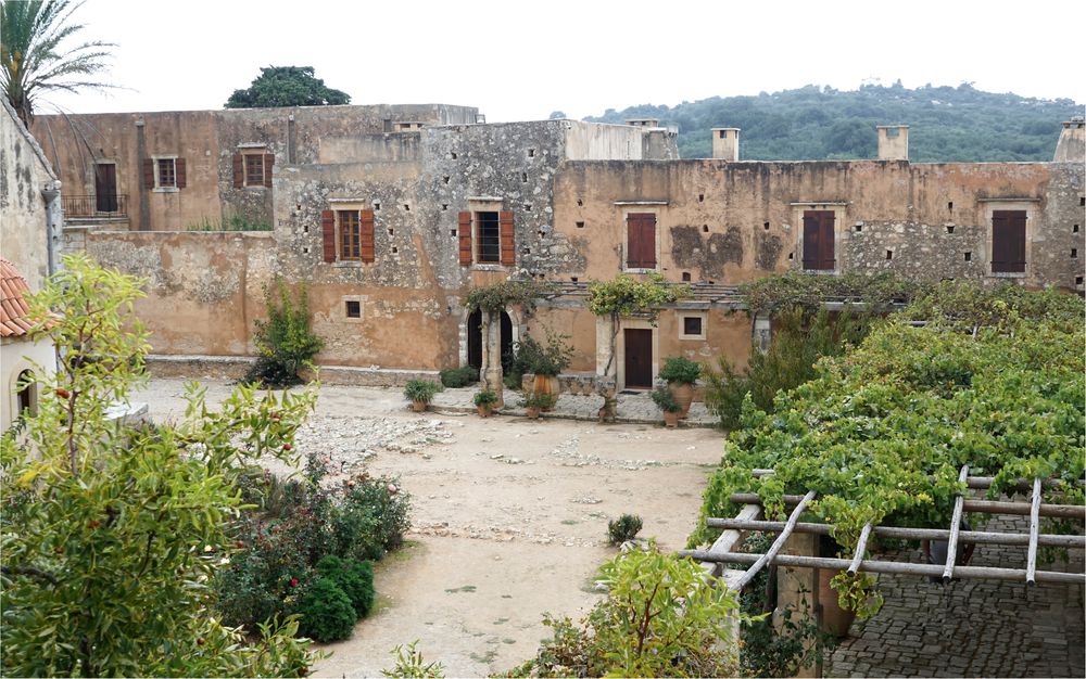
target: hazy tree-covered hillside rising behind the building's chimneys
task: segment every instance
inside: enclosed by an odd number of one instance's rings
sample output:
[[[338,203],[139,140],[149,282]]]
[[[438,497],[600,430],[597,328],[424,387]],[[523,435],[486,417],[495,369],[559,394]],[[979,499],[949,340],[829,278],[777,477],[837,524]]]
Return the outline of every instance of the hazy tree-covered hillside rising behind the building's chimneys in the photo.
[[[982,92],[969,84],[914,90],[866,85],[841,91],[809,85],[756,97],[714,97],[674,107],[608,108],[586,120],[622,123],[655,117],[679,126],[684,158],[712,155],[709,128],[737,127],[746,161],[874,158],[876,125],[909,126],[914,163],[1051,161],[1060,123],[1083,115],[1070,99],[1026,99]]]

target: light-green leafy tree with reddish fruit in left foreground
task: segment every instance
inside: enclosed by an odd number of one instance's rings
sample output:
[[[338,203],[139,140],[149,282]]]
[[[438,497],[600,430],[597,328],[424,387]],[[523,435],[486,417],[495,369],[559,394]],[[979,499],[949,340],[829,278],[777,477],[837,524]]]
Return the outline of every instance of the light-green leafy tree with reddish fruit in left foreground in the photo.
[[[313,656],[296,620],[255,641],[209,613],[207,581],[237,546],[239,473],[267,454],[292,463],[313,393],[239,387],[210,410],[188,387],[177,423],[135,427],[106,409],[140,382],[148,333],[132,316],[140,281],[84,256],[33,297],[34,330],[59,370],[0,438],[0,603],[4,676],[301,676]],[[250,638],[251,639],[251,638]]]

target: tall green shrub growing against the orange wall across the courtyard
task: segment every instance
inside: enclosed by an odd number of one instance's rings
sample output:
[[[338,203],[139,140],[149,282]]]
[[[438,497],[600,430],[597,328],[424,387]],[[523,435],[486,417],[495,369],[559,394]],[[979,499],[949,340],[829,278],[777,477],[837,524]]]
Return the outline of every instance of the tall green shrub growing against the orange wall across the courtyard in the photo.
[[[276,278],[273,285],[264,286],[268,319],[255,321],[256,363],[242,382],[276,387],[300,384],[298,372],[308,366],[324,346],[324,341],[310,330],[308,284],[305,281],[298,283],[296,291],[296,295],[291,295],[280,278]],[[278,302],[275,292],[278,292]]]

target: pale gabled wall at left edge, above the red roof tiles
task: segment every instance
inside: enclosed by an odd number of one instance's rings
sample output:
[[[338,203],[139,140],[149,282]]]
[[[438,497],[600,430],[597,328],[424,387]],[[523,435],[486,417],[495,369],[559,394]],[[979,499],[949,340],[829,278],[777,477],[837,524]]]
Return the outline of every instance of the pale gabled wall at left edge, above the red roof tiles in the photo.
[[[14,110],[0,111],[0,254],[31,291],[49,274],[47,204],[41,195],[56,177]]]

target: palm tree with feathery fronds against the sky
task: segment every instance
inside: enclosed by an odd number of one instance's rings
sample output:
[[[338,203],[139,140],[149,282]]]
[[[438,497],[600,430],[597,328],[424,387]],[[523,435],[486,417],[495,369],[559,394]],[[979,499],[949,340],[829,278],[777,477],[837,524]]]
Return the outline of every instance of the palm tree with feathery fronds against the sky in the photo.
[[[105,71],[105,48],[112,42],[91,41],[68,47],[68,38],[83,30],[70,22],[83,2],[68,0],[0,1],[0,66],[3,92],[27,126],[40,92],[115,87],[93,78]]]

